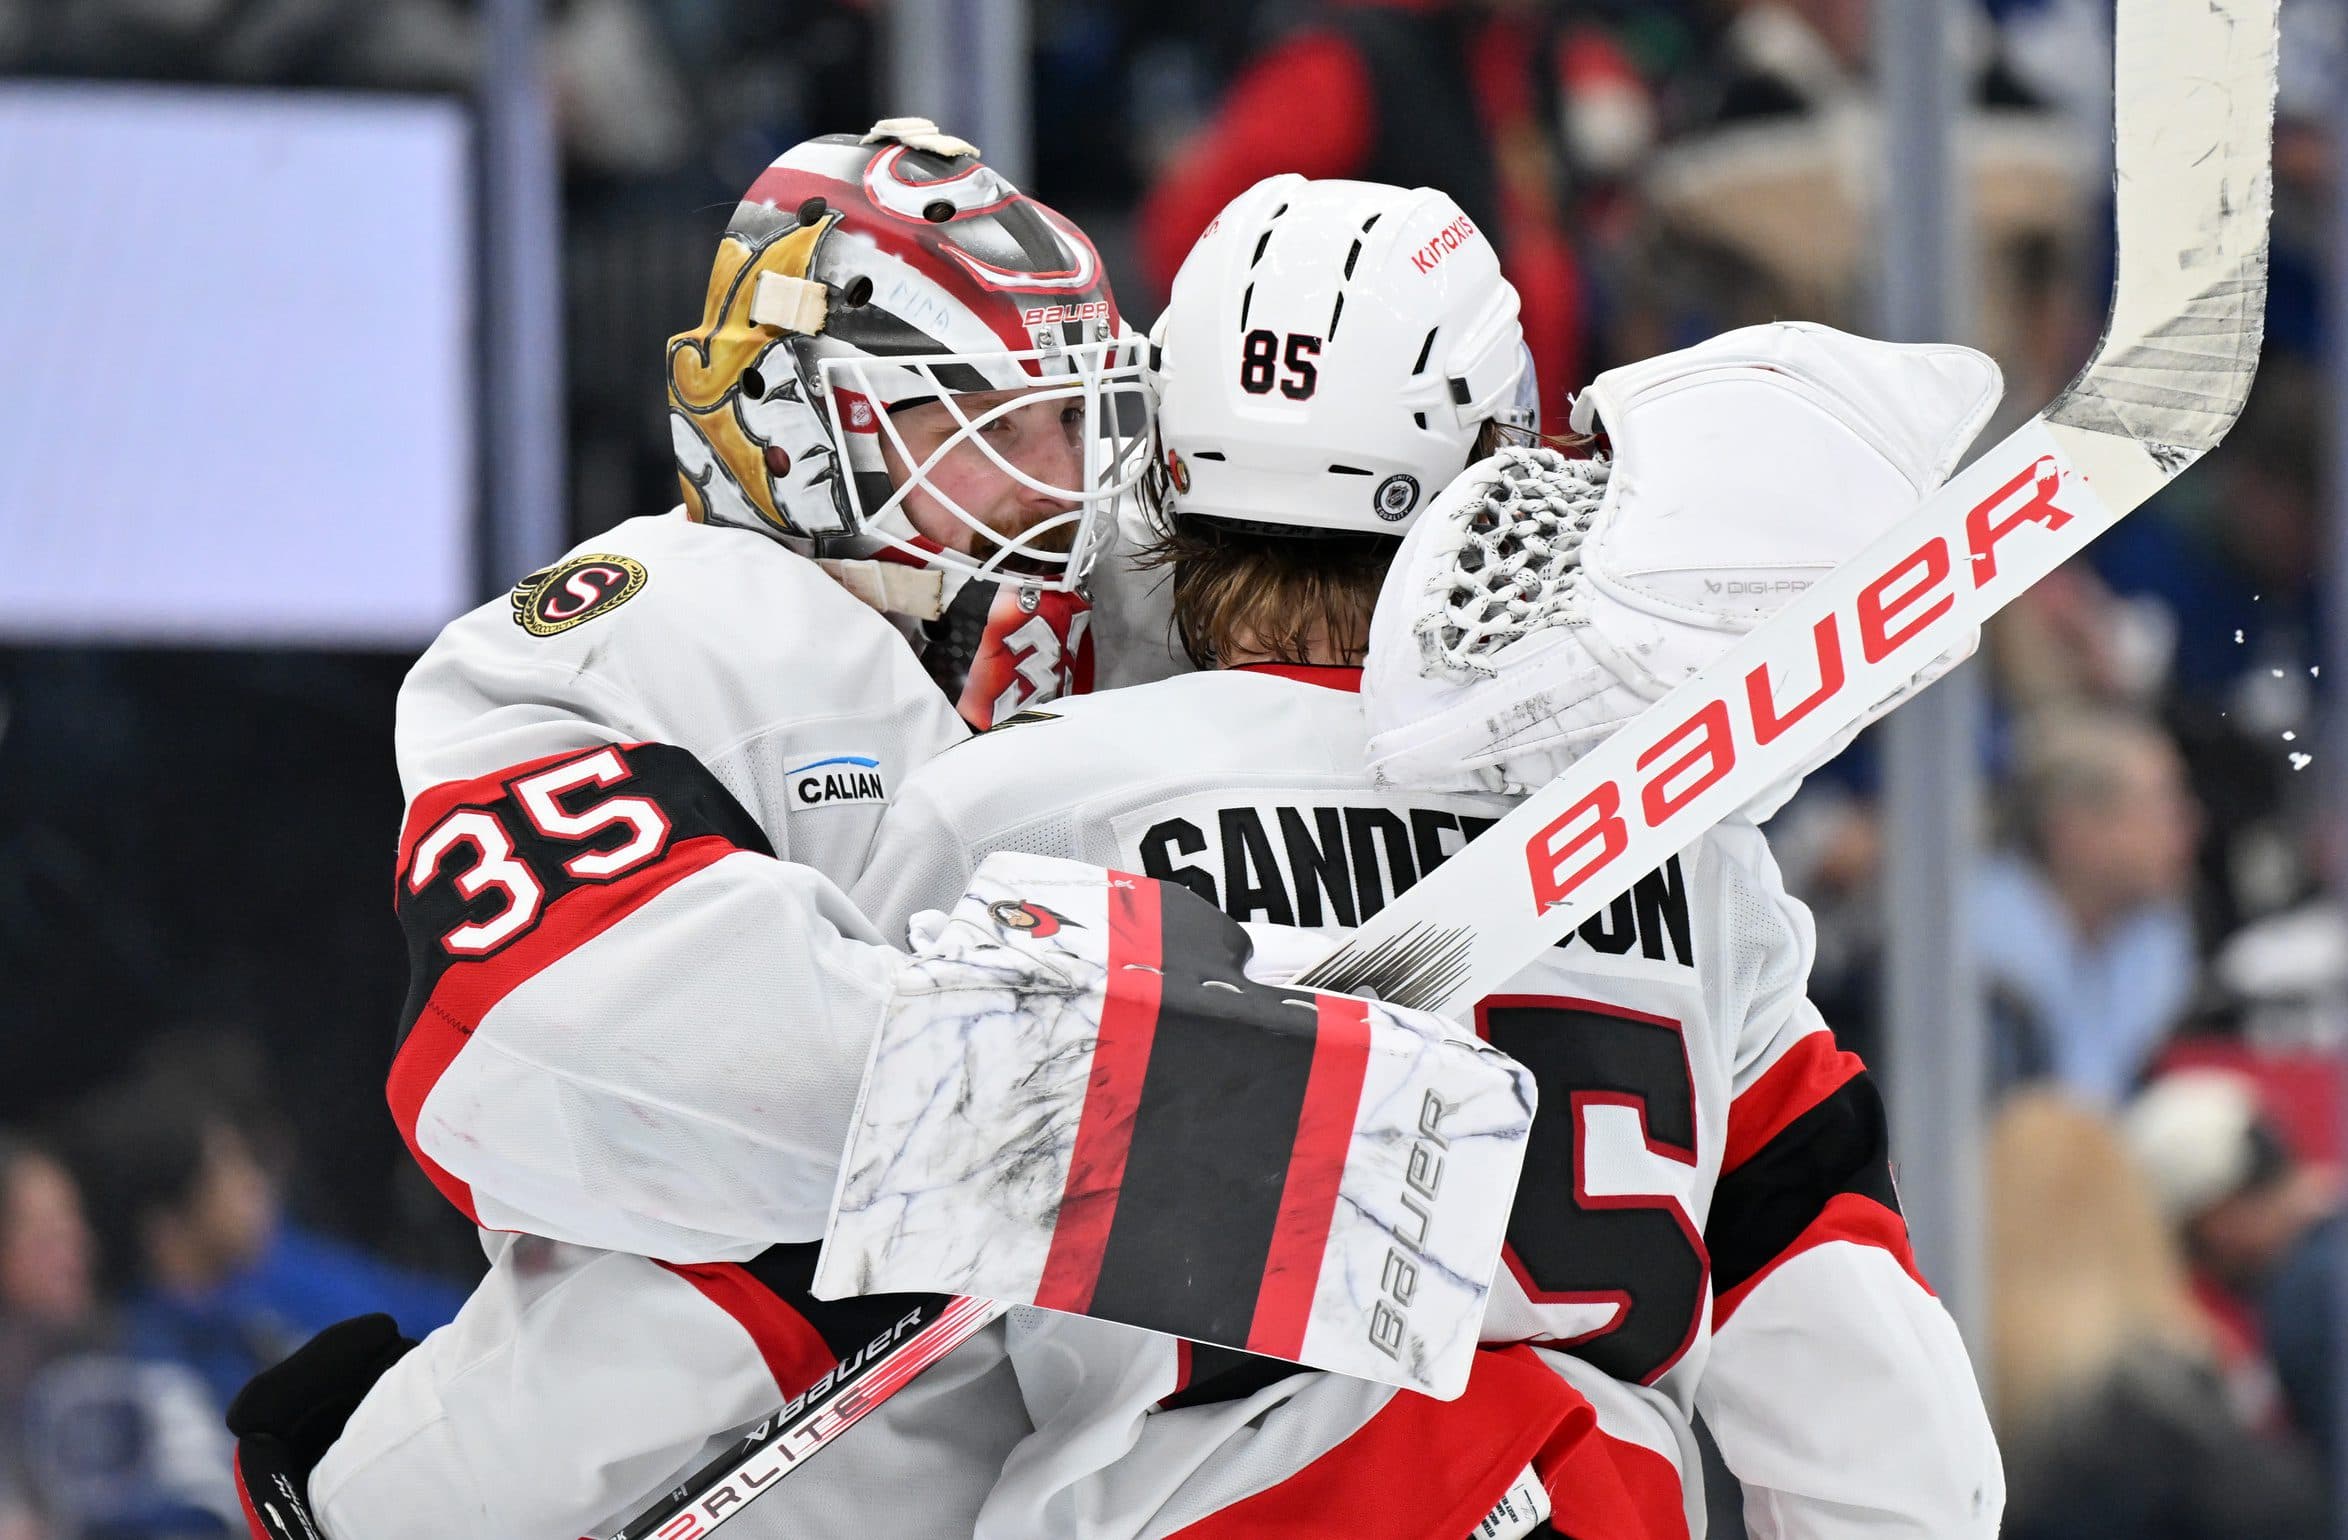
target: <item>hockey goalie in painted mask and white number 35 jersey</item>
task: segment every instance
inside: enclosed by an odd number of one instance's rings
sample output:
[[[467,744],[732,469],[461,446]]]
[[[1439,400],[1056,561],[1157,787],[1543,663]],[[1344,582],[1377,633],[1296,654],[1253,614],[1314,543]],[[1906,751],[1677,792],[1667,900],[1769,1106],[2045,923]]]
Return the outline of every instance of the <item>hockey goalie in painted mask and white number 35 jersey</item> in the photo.
[[[345,1324],[256,1380],[256,1533],[610,1528],[904,1315],[808,1294],[923,962],[841,883],[953,704],[1085,683],[1085,570],[1146,460],[1134,340],[1078,230],[899,120],[761,176],[669,387],[683,514],[460,617],[402,693],[390,1099],[493,1268],[420,1345]],[[1026,1430],[998,1364],[895,1397],[772,1521],[965,1535]]]

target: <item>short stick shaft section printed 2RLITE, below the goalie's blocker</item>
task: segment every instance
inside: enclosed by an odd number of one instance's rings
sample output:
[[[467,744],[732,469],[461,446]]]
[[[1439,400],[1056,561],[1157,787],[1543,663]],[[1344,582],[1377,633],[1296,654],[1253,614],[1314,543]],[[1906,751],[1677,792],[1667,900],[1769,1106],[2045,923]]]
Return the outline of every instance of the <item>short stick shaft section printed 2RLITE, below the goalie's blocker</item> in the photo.
[[[808,1463],[855,1423],[890,1399],[923,1369],[946,1357],[1010,1305],[946,1298],[899,1322],[873,1343],[855,1373],[803,1392],[758,1423],[697,1472],[664,1491],[650,1507],[610,1531],[608,1540],[702,1540],[744,1512],[782,1477]]]

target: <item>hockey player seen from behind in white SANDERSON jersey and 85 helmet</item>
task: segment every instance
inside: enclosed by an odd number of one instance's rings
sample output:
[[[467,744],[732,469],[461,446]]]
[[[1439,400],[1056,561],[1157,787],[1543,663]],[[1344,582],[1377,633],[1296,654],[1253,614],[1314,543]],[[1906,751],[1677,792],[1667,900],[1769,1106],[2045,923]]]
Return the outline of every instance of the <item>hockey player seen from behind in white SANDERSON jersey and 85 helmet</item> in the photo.
[[[1151,354],[1162,554],[1209,671],[1057,702],[918,770],[855,887],[883,925],[951,901],[989,850],[1355,925],[1510,805],[1374,784],[1355,693],[1395,535],[1529,397],[1482,235],[1430,190],[1270,178],[1193,249]],[[1014,1312],[1035,1432],[977,1533],[1428,1540],[1550,1514],[1700,1535],[1693,1411],[1756,1533],[1996,1533],[1982,1401],[1916,1275],[1881,1101],[1803,998],[1810,948],[1730,819],[1475,1009],[1540,1078],[1540,1115],[1465,1397]]]

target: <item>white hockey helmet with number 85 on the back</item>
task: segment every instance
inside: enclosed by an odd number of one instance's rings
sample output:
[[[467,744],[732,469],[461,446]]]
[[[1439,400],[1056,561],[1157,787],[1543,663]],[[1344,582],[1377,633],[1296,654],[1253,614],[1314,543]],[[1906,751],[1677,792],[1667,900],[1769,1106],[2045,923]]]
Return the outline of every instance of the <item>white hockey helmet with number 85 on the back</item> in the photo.
[[[1151,331],[1174,514],[1399,535],[1531,432],[1533,359],[1491,239],[1432,188],[1268,176],[1200,235]]]

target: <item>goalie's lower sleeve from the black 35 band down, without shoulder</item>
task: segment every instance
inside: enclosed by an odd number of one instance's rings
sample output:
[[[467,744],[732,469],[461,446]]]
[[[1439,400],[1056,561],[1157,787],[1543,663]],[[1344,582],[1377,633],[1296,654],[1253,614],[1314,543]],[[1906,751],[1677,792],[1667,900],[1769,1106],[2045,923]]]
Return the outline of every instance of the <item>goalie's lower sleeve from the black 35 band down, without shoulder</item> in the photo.
[[[897,953],[674,744],[434,786],[390,1103],[474,1223],[667,1261],[822,1232]]]

